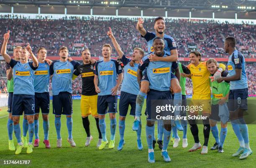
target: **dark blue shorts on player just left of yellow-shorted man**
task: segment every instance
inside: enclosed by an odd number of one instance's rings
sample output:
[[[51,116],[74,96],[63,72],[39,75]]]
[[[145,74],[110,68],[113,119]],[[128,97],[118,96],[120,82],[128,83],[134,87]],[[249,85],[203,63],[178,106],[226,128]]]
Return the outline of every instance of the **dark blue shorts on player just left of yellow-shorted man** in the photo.
[[[64,91],[52,96],[53,114],[56,116],[71,115],[73,113],[72,94]]]

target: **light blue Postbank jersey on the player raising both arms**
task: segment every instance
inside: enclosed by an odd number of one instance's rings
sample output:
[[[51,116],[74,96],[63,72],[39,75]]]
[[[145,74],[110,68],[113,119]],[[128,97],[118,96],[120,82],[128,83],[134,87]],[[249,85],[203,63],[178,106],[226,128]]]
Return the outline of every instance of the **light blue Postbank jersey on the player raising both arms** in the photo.
[[[34,90],[34,70],[33,62],[21,64],[19,61],[11,59],[10,66],[13,69],[13,94],[35,95]]]

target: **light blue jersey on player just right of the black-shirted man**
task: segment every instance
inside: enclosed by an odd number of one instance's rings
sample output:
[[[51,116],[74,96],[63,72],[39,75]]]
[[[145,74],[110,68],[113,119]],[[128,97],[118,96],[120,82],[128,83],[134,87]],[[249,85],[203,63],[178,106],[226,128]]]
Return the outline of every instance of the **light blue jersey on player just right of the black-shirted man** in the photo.
[[[111,89],[116,85],[117,75],[122,73],[122,67],[114,59],[108,62],[96,62],[94,73],[99,78],[98,87],[100,88],[99,96],[111,94]]]

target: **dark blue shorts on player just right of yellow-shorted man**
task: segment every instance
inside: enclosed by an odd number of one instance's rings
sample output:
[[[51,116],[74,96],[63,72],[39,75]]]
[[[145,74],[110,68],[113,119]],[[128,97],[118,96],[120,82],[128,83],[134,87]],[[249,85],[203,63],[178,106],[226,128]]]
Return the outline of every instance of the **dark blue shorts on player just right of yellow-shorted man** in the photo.
[[[97,112],[100,115],[107,113],[117,113],[117,95],[99,96],[97,99]],[[108,112],[107,112],[108,110]]]

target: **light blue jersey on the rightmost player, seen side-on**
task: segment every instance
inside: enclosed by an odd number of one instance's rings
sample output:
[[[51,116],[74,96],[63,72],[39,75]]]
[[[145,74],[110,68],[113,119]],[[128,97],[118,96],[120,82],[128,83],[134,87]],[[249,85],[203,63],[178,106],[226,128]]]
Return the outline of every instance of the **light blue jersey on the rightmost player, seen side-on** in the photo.
[[[242,69],[241,79],[230,81],[230,90],[248,88],[245,58],[238,50],[235,50],[228,58],[228,76],[235,75],[236,69]]]

